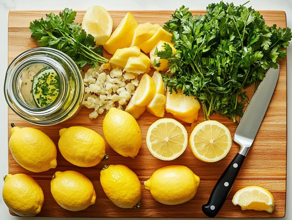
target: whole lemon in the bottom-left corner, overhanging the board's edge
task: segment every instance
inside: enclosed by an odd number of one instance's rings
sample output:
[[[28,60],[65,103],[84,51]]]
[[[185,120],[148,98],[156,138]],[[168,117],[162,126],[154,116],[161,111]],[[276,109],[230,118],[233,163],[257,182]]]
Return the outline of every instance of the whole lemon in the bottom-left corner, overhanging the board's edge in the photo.
[[[2,196],[8,208],[20,216],[35,216],[44,203],[43,190],[26,174],[4,176]]]

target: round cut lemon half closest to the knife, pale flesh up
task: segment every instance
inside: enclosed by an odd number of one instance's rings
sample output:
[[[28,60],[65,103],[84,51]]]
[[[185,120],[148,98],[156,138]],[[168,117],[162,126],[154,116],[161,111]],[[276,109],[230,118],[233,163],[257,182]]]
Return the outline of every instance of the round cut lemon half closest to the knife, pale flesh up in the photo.
[[[224,158],[231,148],[231,134],[217,121],[204,121],[191,133],[190,147],[193,154],[204,162],[216,162]]]

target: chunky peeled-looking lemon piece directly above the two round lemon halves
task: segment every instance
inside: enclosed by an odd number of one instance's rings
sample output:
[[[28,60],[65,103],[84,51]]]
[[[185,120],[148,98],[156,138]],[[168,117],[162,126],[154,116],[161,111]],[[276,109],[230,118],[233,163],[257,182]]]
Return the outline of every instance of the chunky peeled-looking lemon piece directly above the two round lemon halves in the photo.
[[[183,122],[192,123],[198,119],[200,103],[195,96],[186,96],[181,89],[166,93],[165,110],[173,114],[173,117]]]

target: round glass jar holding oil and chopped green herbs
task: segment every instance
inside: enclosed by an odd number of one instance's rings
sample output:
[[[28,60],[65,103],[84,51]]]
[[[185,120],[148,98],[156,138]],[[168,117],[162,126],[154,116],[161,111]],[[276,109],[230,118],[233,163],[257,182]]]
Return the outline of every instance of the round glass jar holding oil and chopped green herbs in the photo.
[[[10,108],[26,121],[53,125],[81,110],[84,83],[69,56],[40,47],[12,61],[6,72],[4,94]]]

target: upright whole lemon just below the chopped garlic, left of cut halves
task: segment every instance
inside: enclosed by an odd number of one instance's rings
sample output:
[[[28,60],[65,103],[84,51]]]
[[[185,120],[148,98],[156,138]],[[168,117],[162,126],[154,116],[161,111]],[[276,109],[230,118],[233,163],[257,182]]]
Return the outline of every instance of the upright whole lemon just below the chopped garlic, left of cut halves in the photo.
[[[102,123],[103,134],[109,146],[124,157],[135,157],[142,144],[142,135],[136,119],[128,112],[110,108]]]

